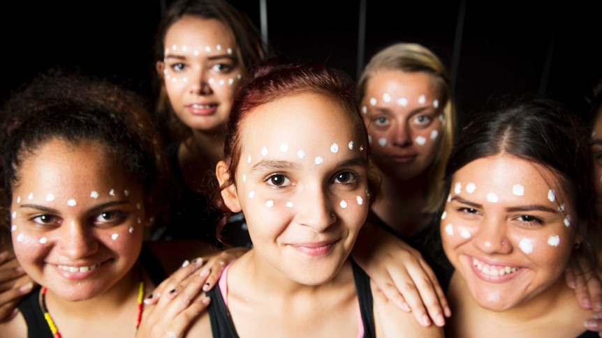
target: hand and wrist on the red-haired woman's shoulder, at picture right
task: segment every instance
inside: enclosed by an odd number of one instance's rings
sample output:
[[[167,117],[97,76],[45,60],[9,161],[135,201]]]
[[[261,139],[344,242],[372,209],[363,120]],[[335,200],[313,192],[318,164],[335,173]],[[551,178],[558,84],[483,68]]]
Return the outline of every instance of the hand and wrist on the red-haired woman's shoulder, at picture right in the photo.
[[[412,312],[423,326],[445,325],[448,302],[422,255],[378,226],[365,224],[353,247],[353,259],[397,307]]]

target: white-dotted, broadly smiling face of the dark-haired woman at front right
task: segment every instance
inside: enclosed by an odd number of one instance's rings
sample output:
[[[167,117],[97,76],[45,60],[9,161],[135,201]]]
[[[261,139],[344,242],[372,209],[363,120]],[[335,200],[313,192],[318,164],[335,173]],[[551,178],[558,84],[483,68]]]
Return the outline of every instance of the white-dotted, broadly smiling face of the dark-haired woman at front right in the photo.
[[[520,306],[564,273],[575,238],[557,182],[513,155],[480,158],[454,174],[441,216],[443,249],[480,306]]]

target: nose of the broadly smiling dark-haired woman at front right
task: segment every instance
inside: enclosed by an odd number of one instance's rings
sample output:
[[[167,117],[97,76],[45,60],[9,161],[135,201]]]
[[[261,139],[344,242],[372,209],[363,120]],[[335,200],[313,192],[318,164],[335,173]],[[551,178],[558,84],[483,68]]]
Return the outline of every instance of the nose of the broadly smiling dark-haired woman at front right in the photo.
[[[508,239],[504,222],[485,217],[485,220],[473,232],[472,236],[474,247],[485,254],[508,254],[512,252],[512,245]]]

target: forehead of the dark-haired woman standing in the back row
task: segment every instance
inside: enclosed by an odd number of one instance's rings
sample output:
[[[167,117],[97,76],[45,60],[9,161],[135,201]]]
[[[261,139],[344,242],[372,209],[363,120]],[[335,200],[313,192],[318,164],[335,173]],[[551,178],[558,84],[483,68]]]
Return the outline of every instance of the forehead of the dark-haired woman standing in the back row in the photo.
[[[192,15],[184,15],[180,20],[170,26],[165,37],[166,50],[176,47],[182,52],[194,50],[206,52],[205,47],[222,45],[222,47],[235,47],[235,41],[228,27],[216,19],[204,19]],[[213,50],[213,49],[212,49]]]

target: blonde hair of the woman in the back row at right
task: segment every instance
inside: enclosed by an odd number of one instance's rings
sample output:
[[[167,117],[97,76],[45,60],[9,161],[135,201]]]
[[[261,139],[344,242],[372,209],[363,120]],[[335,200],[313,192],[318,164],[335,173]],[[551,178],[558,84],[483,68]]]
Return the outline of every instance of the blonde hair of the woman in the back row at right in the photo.
[[[402,72],[423,72],[430,75],[439,91],[443,112],[443,130],[439,152],[427,173],[427,203],[423,212],[435,213],[444,199],[444,176],[456,128],[456,112],[452,97],[451,82],[441,60],[423,45],[397,43],[382,49],[372,56],[358,81],[358,98],[364,99],[369,80],[378,72],[401,70]]]

